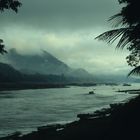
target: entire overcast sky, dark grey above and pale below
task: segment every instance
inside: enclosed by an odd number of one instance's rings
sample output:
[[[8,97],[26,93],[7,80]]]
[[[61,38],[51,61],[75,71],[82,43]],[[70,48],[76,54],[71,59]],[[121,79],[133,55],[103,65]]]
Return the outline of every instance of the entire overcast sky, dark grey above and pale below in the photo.
[[[107,20],[120,10],[117,0],[22,0],[18,14],[0,14],[6,49],[34,54],[46,50],[73,68],[90,73],[126,73],[126,51],[94,38],[112,29]]]

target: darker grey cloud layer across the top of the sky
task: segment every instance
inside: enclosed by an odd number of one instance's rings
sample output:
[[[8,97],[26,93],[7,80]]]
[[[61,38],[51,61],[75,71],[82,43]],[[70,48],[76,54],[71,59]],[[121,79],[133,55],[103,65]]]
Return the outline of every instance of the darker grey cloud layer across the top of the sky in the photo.
[[[6,22],[50,30],[91,28],[106,24],[119,9],[117,0],[24,0],[22,3],[18,14],[1,15],[3,26]]]

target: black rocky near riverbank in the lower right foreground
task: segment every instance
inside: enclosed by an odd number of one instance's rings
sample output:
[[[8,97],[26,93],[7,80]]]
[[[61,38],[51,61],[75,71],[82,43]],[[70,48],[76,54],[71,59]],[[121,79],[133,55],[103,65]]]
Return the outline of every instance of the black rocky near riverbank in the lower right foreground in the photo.
[[[137,96],[93,114],[80,114],[78,121],[66,125],[43,126],[30,134],[15,133],[1,140],[135,140],[140,137],[139,106],[140,96]]]

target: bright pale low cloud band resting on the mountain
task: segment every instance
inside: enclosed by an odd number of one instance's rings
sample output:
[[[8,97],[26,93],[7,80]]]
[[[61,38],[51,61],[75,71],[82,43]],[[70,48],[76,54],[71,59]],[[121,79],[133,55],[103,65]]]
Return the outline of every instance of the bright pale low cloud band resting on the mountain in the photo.
[[[16,48],[21,54],[41,54],[46,50],[73,68],[85,68],[91,73],[125,73],[128,52],[95,40],[96,34],[98,30],[84,34],[81,31],[58,33],[9,28],[3,36],[7,49]]]

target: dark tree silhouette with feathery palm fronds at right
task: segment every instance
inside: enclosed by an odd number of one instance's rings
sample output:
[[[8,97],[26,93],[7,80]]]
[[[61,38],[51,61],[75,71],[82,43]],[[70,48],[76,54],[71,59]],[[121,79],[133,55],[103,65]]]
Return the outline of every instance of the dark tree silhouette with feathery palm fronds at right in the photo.
[[[113,43],[117,39],[119,42],[116,48],[126,47],[130,54],[126,57],[128,65],[134,69],[128,74],[140,74],[140,5],[139,0],[118,0],[123,4],[120,13],[110,17],[109,21],[114,21],[115,29],[104,32],[96,37]]]

